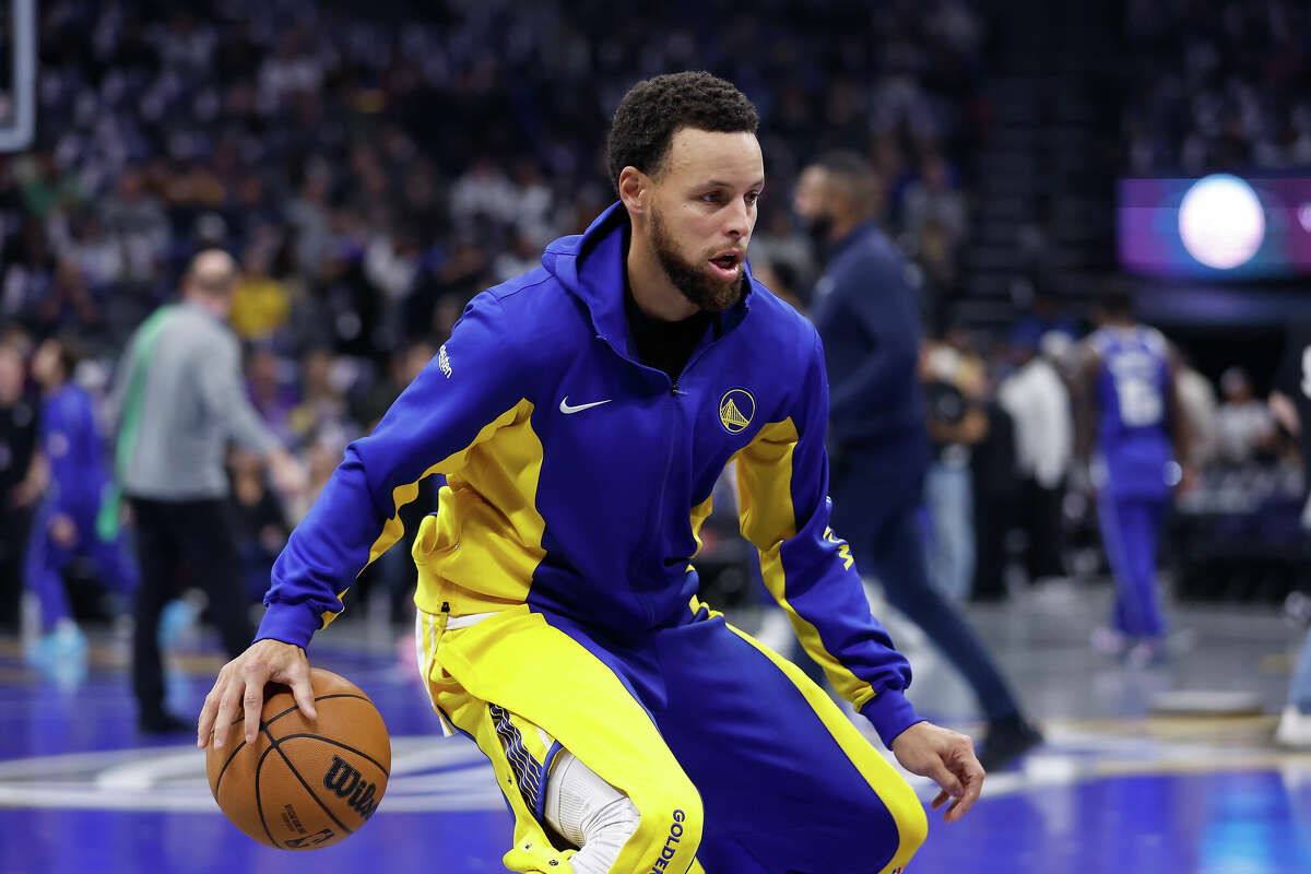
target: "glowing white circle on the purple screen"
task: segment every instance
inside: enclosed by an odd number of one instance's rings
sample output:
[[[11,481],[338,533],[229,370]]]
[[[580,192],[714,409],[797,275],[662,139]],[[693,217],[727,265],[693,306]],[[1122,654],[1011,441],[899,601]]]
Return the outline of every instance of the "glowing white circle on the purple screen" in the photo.
[[[1179,236],[1207,267],[1248,262],[1265,238],[1265,214],[1252,186],[1228,173],[1198,180],[1179,204]]]

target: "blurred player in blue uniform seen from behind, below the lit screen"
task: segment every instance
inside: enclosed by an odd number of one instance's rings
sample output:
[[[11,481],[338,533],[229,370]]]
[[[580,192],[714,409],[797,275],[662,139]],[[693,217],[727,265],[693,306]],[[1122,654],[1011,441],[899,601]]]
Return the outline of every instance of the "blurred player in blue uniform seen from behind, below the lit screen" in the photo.
[[[1084,341],[1079,455],[1089,463],[1116,578],[1110,625],[1097,629],[1093,643],[1138,666],[1165,654],[1156,545],[1172,489],[1190,480],[1180,463],[1189,456],[1173,362],[1160,332],[1134,321],[1127,292],[1109,286],[1099,304],[1099,328]]]

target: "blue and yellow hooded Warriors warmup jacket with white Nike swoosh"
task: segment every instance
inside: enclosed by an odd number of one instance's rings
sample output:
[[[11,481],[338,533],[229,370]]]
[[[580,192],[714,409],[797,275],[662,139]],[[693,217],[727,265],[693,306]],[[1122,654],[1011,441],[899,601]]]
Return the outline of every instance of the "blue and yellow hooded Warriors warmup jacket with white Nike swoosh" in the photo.
[[[737,461],[742,533],[806,650],[890,743],[916,721],[910,666],[871,616],[829,528],[829,389],[814,328],[751,280],[676,381],[637,362],[624,314],[621,204],[476,296],[437,358],[345,460],[273,569],[260,638],[305,646],[355,575],[402,535],[420,609],[527,603],[640,646],[691,621],[716,478]]]

